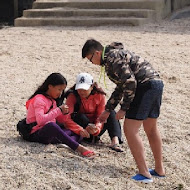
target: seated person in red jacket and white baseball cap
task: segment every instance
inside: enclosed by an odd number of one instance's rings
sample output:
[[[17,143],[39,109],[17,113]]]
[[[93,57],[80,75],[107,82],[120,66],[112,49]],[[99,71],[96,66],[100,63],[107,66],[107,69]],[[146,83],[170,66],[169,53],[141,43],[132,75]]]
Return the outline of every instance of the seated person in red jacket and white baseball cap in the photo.
[[[105,124],[98,121],[99,115],[105,110],[105,101],[105,92],[93,83],[93,77],[88,73],[80,73],[76,84],[68,92],[66,104],[69,106],[69,117],[65,126],[88,142],[99,140],[107,130],[111,139],[110,148],[122,152],[119,145],[122,143],[121,126],[116,120],[115,112],[111,112]],[[86,138],[86,133],[90,138]]]

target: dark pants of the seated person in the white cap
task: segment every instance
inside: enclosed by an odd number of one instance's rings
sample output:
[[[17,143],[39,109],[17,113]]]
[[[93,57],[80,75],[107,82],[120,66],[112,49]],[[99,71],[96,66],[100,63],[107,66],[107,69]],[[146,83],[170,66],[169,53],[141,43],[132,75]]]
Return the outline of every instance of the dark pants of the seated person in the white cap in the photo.
[[[78,113],[73,120],[82,126],[84,129],[88,126],[90,123],[88,117],[85,114]],[[116,120],[115,117],[115,111],[111,111],[110,115],[107,119],[107,122],[104,123],[104,127],[100,134],[97,136],[95,141],[98,141],[100,139],[100,136],[104,134],[105,131],[108,131],[109,137],[112,140],[113,137],[117,136],[119,138],[119,143],[122,143],[122,136],[121,136],[121,125],[118,120]],[[91,142],[93,139],[93,136],[91,135],[90,139],[84,138],[85,141]]]

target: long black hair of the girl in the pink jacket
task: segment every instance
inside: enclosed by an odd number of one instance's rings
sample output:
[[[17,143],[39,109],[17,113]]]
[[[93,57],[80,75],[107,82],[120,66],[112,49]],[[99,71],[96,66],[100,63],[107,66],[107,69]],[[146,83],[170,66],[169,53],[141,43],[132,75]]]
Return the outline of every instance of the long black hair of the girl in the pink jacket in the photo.
[[[65,77],[60,73],[52,73],[46,78],[46,80],[42,83],[42,85],[40,85],[37,88],[34,94],[30,96],[29,100],[34,96],[36,96],[37,94],[43,94],[44,96],[47,96],[46,92],[48,90],[49,85],[57,86],[62,84],[67,85],[67,80],[65,79]],[[61,99],[64,99],[64,92],[62,93],[60,98],[56,99],[57,104],[58,102],[61,101]]]

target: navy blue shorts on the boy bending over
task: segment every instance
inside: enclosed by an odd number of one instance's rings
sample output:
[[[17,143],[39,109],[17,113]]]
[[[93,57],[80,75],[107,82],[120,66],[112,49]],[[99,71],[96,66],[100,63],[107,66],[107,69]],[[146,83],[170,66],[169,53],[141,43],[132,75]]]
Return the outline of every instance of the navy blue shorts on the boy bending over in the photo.
[[[164,84],[161,80],[150,80],[138,84],[135,98],[130,104],[125,117],[128,119],[145,120],[147,118],[158,118],[162,102]]]

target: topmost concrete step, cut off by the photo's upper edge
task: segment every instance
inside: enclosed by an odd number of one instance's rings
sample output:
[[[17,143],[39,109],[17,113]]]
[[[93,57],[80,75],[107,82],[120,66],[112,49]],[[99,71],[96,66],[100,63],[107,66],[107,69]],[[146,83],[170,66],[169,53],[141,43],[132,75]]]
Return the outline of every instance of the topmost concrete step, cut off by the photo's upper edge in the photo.
[[[86,1],[35,1],[33,9],[48,9],[54,7],[75,7],[82,9],[156,9],[157,4],[164,0],[86,0]]]

